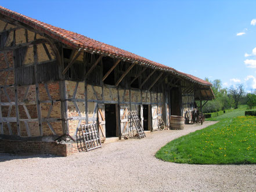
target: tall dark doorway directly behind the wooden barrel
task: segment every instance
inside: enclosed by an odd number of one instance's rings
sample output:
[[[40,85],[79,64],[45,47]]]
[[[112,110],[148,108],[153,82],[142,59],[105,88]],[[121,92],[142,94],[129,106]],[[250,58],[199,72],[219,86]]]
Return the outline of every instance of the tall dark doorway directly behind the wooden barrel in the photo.
[[[181,115],[181,100],[179,98],[179,88],[171,89],[171,115]]]

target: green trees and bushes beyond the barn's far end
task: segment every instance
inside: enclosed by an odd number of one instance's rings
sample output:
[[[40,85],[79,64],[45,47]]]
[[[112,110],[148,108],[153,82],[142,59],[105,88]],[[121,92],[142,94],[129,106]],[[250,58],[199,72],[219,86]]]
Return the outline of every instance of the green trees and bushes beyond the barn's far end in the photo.
[[[237,108],[239,104],[247,104],[250,109],[256,106],[256,90],[246,93],[243,84],[222,88],[220,79],[209,81],[208,78],[205,78],[205,81],[211,82],[215,99],[204,105],[203,113],[217,112],[232,107]]]

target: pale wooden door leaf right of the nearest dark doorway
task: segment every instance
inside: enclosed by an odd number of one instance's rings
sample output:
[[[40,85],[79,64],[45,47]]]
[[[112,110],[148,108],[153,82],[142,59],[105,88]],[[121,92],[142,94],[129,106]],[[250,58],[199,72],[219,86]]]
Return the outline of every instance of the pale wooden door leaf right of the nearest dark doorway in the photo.
[[[129,134],[129,110],[128,106],[120,106],[120,125],[121,135],[126,136]]]

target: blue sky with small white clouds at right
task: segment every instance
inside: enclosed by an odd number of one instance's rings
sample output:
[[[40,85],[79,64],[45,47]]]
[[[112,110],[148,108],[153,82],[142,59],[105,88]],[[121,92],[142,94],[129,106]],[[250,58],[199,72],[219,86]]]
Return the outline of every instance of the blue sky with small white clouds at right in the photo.
[[[176,70],[256,89],[256,1],[2,1]],[[247,54],[247,55],[246,55]],[[245,56],[246,55],[246,56]]]

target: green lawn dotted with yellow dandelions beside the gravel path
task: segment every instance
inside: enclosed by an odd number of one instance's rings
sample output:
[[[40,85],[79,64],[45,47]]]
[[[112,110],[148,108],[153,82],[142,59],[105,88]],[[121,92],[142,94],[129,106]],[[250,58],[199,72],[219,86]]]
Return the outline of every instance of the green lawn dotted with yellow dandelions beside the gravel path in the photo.
[[[173,140],[156,157],[186,164],[256,164],[256,117],[242,116],[244,110],[212,118],[219,122]]]

